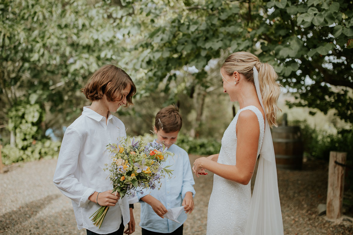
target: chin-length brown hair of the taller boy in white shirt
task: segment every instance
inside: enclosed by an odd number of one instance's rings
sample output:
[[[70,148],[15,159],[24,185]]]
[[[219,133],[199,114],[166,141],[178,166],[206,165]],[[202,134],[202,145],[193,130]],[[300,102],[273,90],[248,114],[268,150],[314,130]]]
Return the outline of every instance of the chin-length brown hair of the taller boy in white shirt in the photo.
[[[106,95],[108,101],[115,101],[123,98],[122,90],[127,84],[131,85],[131,89],[126,96],[126,106],[133,104],[132,96],[136,94],[136,86],[124,70],[108,64],[94,72],[81,91],[90,101],[100,100],[103,95]]]

